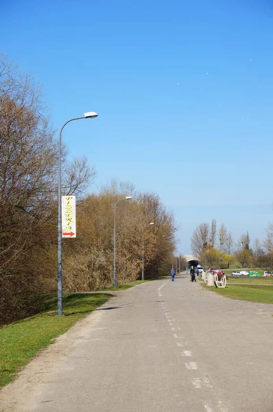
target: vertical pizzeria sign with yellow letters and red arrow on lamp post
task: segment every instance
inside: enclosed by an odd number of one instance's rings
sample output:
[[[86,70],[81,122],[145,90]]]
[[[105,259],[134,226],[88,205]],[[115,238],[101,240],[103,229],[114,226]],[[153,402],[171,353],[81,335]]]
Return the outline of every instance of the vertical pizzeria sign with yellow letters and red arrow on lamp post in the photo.
[[[76,196],[62,196],[62,238],[76,237]]]

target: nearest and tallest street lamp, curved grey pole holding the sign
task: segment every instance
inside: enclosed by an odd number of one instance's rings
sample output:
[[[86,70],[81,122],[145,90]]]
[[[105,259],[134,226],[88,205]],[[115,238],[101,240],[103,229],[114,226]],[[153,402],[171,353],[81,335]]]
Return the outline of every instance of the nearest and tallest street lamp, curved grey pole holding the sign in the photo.
[[[73,120],[79,119],[93,119],[97,117],[97,113],[88,112],[84,113],[82,117],[74,117],[73,119],[68,120],[62,128],[60,129],[59,134],[59,165],[58,165],[58,316],[62,316],[62,194],[61,194],[61,185],[62,185],[62,174],[61,174],[61,150],[62,150],[62,130],[67,123],[72,122]]]

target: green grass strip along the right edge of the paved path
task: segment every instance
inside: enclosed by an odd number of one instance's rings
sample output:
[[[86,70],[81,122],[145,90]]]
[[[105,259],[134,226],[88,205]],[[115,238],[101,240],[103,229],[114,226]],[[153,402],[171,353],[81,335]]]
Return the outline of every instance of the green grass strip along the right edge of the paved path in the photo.
[[[244,301],[261,302],[263,304],[273,304],[273,288],[260,285],[228,285],[226,288],[208,287],[209,290],[220,295]]]

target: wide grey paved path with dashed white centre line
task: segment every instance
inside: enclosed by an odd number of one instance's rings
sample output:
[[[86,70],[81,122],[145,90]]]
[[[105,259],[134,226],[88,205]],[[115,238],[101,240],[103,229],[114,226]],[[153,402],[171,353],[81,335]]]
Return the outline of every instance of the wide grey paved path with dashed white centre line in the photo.
[[[0,411],[272,412],[272,314],[189,277],[119,291],[0,392]]]

